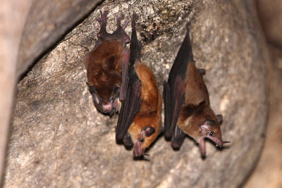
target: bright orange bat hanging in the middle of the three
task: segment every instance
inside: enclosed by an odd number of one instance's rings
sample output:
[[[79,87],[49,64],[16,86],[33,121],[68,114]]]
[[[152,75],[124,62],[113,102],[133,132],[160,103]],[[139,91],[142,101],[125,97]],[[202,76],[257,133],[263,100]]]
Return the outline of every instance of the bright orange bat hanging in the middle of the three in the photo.
[[[161,94],[157,81],[147,65],[140,61],[133,14],[130,42],[130,65],[125,101],[118,115],[116,139],[125,146],[133,146],[133,155],[147,155],[145,149],[157,138],[161,130]]]

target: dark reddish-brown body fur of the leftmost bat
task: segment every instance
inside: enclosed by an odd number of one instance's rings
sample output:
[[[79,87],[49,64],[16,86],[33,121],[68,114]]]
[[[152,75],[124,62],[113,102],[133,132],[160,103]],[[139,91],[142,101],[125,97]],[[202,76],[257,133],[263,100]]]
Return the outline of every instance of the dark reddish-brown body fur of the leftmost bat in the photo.
[[[121,86],[121,61],[123,44],[118,41],[104,41],[90,51],[85,66],[88,84],[94,85],[102,101],[106,103],[115,84]]]

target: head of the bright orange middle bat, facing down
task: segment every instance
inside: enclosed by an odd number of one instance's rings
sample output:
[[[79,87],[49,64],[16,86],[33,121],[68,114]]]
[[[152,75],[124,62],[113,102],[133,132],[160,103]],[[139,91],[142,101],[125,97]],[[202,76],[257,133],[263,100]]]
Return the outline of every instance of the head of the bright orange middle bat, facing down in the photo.
[[[155,129],[153,127],[146,127],[141,130],[140,134],[137,135],[137,139],[134,142],[133,155],[135,157],[148,155],[144,153],[145,149],[151,144],[151,140],[148,139],[152,134],[154,134]]]

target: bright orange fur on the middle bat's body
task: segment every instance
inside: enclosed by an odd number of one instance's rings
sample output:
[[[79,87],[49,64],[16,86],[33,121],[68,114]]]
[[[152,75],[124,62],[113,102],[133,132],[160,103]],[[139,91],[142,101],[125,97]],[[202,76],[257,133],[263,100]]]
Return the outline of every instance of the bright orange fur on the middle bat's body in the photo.
[[[135,65],[136,73],[142,82],[141,90],[141,104],[140,112],[135,115],[133,123],[130,125],[128,132],[133,142],[136,139],[144,137],[140,132],[145,127],[153,127],[155,129],[154,134],[145,138],[145,142],[142,144],[142,148],[147,147],[154,142],[157,138],[159,131],[161,130],[161,103],[162,98],[157,87],[157,81],[152,71],[144,63]]]

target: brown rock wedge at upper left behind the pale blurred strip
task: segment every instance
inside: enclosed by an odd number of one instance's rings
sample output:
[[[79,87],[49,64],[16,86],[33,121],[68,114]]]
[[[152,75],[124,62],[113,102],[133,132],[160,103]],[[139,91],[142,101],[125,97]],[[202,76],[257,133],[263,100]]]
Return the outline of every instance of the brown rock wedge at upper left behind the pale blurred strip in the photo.
[[[17,77],[102,0],[32,1],[17,63]]]

